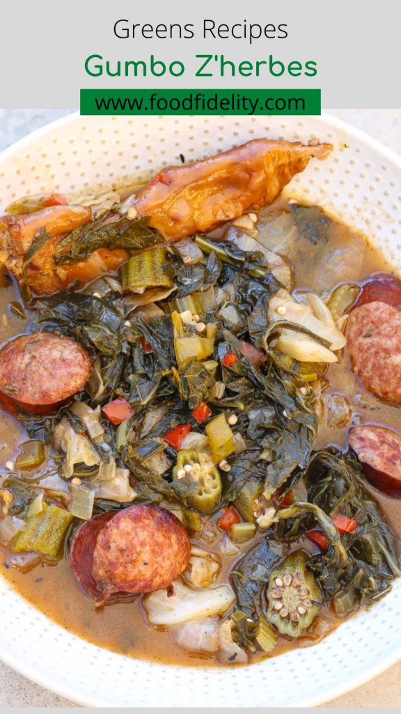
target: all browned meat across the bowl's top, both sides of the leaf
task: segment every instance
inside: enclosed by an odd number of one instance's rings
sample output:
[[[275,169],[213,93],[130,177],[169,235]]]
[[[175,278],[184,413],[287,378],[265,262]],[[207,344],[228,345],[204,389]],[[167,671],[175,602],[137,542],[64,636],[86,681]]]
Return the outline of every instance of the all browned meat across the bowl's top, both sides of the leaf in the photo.
[[[177,241],[196,232],[210,231],[250,209],[256,211],[274,201],[295,174],[315,156],[325,159],[330,144],[304,146],[288,141],[255,139],[248,144],[196,161],[188,166],[171,166],[125,203],[163,233],[166,241]],[[100,248],[88,259],[68,266],[54,263],[54,252],[62,236],[91,220],[85,206],[49,206],[35,213],[0,218],[0,258],[34,293],[44,295],[64,290],[73,281],[86,283],[103,273],[116,271],[128,258],[124,250]],[[107,220],[107,218],[106,218]],[[51,237],[29,259],[39,231]]]

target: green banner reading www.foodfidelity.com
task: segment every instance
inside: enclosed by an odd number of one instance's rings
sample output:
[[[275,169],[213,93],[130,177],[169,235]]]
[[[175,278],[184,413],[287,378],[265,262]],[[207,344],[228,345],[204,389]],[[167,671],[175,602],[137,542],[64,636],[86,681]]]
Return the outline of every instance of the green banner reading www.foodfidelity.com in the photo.
[[[81,89],[81,114],[321,114],[320,89]]]

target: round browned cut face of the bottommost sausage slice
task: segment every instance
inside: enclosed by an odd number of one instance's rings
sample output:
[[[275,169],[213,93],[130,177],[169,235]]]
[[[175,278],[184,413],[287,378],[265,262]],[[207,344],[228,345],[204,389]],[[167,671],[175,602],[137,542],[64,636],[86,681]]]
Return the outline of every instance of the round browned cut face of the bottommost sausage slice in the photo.
[[[191,545],[178,518],[157,506],[118,511],[96,538],[92,575],[103,601],[113,593],[150,593],[186,568]]]

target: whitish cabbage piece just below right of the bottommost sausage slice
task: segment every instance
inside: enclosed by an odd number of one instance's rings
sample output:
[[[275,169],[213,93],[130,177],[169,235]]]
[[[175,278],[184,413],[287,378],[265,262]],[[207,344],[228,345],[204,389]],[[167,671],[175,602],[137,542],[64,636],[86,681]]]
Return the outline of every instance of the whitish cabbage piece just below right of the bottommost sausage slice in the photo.
[[[189,620],[203,620],[225,613],[235,601],[229,585],[210,590],[193,590],[181,580],[173,582],[173,595],[156,590],[143,598],[143,607],[152,625],[178,625]]]

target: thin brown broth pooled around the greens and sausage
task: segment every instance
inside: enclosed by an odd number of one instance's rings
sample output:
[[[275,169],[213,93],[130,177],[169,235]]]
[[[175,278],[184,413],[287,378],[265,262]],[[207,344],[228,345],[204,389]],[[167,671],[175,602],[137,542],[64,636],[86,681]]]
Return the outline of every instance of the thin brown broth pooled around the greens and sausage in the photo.
[[[283,207],[276,204],[274,210],[277,211],[278,208]],[[260,228],[263,229],[263,221],[268,220],[269,216],[270,209],[262,213]],[[288,246],[285,255],[295,270],[296,286],[310,288],[318,293],[331,290],[335,284],[343,281],[363,281],[372,272],[391,272],[391,268],[385,263],[380,253],[369,246],[364,238],[357,236],[350,228],[341,223],[334,223],[330,228],[328,246],[313,246],[313,250],[311,250],[311,244],[305,238],[301,238]],[[9,303],[14,299],[13,286],[4,286],[0,289],[1,342],[24,332],[24,321],[9,311]],[[330,365],[325,378],[330,391],[347,395],[354,414],[360,414],[369,421],[388,424],[401,431],[401,410],[380,403],[367,393],[350,371],[346,351],[340,363]],[[1,410],[0,427],[0,441],[2,442],[0,444],[0,466],[7,467],[7,463],[12,462],[15,458],[18,444],[24,441],[24,431],[13,416]],[[346,432],[347,427],[320,428],[315,448],[321,448],[328,444],[335,444],[343,448],[346,444]],[[392,527],[401,537],[399,502],[382,496],[374,489],[371,491],[380,502]],[[196,542],[210,550],[213,550],[216,545],[210,540]],[[241,553],[248,550],[252,544],[248,542],[242,545]],[[313,549],[313,545],[310,543],[305,547],[309,550]],[[64,555],[64,558],[56,565],[40,565],[28,573],[21,573],[15,568],[6,568],[4,561],[8,555],[6,549],[0,551],[1,572],[6,580],[36,608],[59,623],[61,627],[76,633],[81,638],[114,652],[153,662],[191,666],[215,664],[215,661],[210,658],[191,655],[179,648],[169,638],[167,632],[151,628],[146,623],[146,617],[143,608],[141,608],[141,598],[96,608],[93,600],[77,587],[67,555]],[[229,570],[240,556],[228,558],[223,557],[221,553],[219,555],[223,562],[219,582],[227,582]],[[325,634],[338,624],[327,608],[322,611],[320,618],[325,620]],[[306,646],[316,641],[318,638],[313,639],[305,635],[298,640],[298,645]],[[292,647],[293,643],[290,640],[279,638],[273,655],[283,653]],[[260,656],[256,654],[254,660]]]

